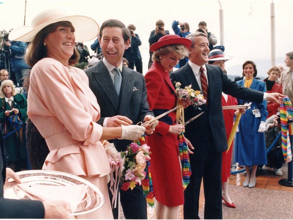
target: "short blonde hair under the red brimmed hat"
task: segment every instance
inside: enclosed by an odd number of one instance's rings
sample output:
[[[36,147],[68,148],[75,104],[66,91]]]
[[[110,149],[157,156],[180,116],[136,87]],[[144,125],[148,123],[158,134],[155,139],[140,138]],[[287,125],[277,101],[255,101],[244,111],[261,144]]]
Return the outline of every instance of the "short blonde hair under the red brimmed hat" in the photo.
[[[152,61],[159,61],[159,57],[163,56],[168,53],[176,53],[181,55],[181,59],[184,57],[188,57],[189,53],[186,47],[182,44],[171,44],[164,47],[159,48],[158,50],[154,51],[153,55],[151,56]]]

